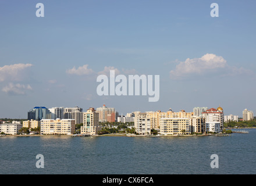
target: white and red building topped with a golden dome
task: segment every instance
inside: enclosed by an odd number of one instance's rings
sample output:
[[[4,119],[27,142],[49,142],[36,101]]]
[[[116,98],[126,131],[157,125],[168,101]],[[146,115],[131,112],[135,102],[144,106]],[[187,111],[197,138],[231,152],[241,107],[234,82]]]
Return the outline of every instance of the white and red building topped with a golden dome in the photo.
[[[205,124],[218,124],[220,125],[221,131],[223,129],[223,123],[224,123],[224,112],[221,106],[219,106],[217,109],[211,108],[206,110],[205,112],[202,112],[202,117],[205,118]],[[215,128],[215,127],[214,127]],[[218,128],[216,128],[218,129]],[[207,130],[205,130],[207,131]],[[214,131],[214,132],[219,132]]]

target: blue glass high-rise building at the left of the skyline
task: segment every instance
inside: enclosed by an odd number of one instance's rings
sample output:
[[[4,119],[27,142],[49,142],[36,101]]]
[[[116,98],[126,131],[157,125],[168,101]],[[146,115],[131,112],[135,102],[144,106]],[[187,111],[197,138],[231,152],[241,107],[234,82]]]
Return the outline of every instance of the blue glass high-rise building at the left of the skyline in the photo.
[[[44,106],[36,106],[27,113],[28,120],[40,121],[41,119],[51,119],[51,117],[51,112]]]

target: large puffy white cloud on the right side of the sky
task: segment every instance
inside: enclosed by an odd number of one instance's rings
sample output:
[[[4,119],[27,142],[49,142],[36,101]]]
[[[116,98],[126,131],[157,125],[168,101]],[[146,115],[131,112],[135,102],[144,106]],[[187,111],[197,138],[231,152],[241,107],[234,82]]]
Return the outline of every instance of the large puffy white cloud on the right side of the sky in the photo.
[[[170,71],[171,78],[181,78],[190,74],[204,74],[215,69],[223,69],[227,67],[226,60],[222,56],[216,56],[212,53],[207,53],[201,58],[190,59],[180,62],[176,65],[175,70]]]

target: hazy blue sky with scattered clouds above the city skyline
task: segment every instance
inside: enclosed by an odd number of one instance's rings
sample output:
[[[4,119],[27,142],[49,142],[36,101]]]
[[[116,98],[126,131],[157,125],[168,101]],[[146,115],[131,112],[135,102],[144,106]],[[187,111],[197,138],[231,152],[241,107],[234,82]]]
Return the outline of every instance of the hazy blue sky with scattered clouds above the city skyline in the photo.
[[[45,17],[35,16],[39,2]],[[219,17],[210,16],[214,2]],[[219,105],[226,115],[241,117],[246,108],[256,113],[255,5],[3,0],[0,117],[26,118],[34,106],[86,110],[104,103],[124,114]],[[159,101],[98,96],[97,75],[109,69],[160,75]]]

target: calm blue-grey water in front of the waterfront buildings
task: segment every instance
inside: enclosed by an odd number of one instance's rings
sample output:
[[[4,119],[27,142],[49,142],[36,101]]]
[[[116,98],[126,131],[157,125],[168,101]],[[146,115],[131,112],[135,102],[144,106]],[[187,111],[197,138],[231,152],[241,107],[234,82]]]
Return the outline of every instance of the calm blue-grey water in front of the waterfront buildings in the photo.
[[[231,137],[0,137],[0,174],[256,174],[256,129]],[[44,169],[35,163],[44,155]],[[212,169],[212,154],[219,168]]]

